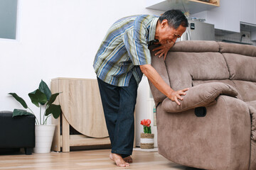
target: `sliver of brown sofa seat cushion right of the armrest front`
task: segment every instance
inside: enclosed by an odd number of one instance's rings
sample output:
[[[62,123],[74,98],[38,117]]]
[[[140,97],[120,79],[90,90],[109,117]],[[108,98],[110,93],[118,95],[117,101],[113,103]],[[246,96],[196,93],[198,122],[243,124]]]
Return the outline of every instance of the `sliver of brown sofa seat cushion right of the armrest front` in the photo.
[[[256,141],[256,101],[246,102],[250,110],[251,121],[252,121],[252,136],[251,139]]]

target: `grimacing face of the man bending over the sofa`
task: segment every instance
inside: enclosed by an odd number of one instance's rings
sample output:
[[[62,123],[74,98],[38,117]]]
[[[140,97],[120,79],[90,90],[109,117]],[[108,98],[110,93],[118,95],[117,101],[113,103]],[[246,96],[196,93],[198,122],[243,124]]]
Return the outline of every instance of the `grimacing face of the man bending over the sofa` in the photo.
[[[159,28],[159,33],[156,39],[159,40],[161,45],[166,45],[168,42],[176,42],[177,38],[186,31],[186,27],[178,26],[177,29],[169,27],[166,20],[162,21]]]

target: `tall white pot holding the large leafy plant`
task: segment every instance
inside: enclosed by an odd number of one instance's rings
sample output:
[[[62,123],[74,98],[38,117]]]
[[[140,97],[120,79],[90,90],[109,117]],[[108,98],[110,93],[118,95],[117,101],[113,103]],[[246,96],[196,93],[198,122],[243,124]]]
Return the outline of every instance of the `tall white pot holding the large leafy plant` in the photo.
[[[34,147],[33,152],[50,153],[55,125],[36,125],[35,130],[36,146]]]

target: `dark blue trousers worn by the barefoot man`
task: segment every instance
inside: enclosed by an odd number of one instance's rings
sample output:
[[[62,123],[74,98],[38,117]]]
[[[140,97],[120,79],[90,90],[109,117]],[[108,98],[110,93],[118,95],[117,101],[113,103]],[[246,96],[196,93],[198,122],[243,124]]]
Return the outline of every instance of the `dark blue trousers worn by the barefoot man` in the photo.
[[[112,153],[127,157],[132,154],[134,143],[134,108],[137,99],[137,81],[132,78],[129,86],[113,86],[97,78]]]

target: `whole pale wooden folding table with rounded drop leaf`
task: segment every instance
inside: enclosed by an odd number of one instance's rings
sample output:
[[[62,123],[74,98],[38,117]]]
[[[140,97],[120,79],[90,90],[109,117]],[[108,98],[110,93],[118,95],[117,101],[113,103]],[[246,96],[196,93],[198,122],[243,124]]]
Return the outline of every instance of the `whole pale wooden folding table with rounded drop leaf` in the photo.
[[[52,149],[70,152],[70,147],[110,145],[96,79],[56,78],[50,83],[52,93],[61,92],[55,103],[63,113],[52,118],[56,125]],[[70,125],[82,135],[70,135]],[[61,128],[60,128],[61,127]],[[62,135],[60,135],[60,129]]]

